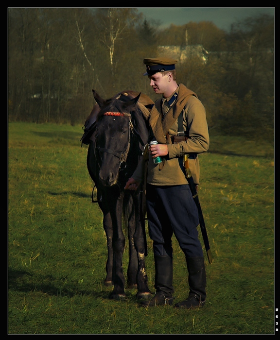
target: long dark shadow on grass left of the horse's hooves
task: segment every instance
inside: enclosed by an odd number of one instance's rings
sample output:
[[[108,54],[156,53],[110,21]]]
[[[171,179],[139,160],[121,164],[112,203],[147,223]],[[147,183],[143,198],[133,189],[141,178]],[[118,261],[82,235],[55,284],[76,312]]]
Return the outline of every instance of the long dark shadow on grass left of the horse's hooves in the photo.
[[[49,283],[49,284],[43,284],[43,283],[33,283],[33,282],[27,282],[29,280],[24,280],[25,277],[32,277],[33,274],[26,271],[19,271],[14,270],[12,268],[8,269],[8,289],[9,290],[15,290],[19,292],[35,292],[40,291],[44,294],[53,295],[53,296],[69,296],[73,297],[75,295],[90,295],[94,296],[95,298],[102,298],[106,299],[108,297],[108,291],[102,291],[102,292],[96,292],[93,290],[82,290],[82,289],[67,289],[60,287],[56,287],[55,284]],[[45,280],[52,280],[52,277],[50,275],[47,276],[41,276],[38,280],[38,277],[35,278],[35,281],[45,281]],[[53,279],[54,280],[54,279]]]

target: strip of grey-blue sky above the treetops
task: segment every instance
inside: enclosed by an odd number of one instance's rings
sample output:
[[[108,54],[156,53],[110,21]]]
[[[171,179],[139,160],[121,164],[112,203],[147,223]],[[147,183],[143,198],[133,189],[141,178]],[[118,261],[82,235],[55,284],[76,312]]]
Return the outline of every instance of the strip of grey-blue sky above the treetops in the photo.
[[[139,13],[149,21],[160,20],[159,28],[169,27],[171,24],[183,25],[190,21],[211,21],[218,28],[229,31],[230,25],[246,17],[255,17],[260,14],[275,15],[274,7],[162,7],[138,8]]]

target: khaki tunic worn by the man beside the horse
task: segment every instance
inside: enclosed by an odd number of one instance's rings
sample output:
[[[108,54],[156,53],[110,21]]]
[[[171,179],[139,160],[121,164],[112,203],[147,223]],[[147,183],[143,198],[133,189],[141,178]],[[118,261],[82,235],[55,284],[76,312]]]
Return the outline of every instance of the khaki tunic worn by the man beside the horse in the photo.
[[[151,155],[148,155],[147,183],[158,186],[174,186],[188,184],[183,168],[183,155],[185,153],[204,153],[209,149],[209,133],[206,112],[203,104],[196,94],[183,84],[175,91],[178,96],[175,102],[168,105],[164,103],[164,114],[161,116],[161,100],[155,103],[150,113],[145,111],[149,124],[159,144],[167,144],[168,156],[163,157],[163,164],[154,164]],[[171,96],[172,97],[172,96]],[[167,99],[168,100],[168,99]],[[166,107],[167,106],[167,107]],[[178,116],[183,112],[183,127],[187,131],[188,139],[173,144],[171,136],[178,132]],[[166,134],[169,134],[166,135]],[[144,178],[145,159],[133,174],[133,178],[140,182]],[[199,184],[198,156],[189,159],[194,183]]]

